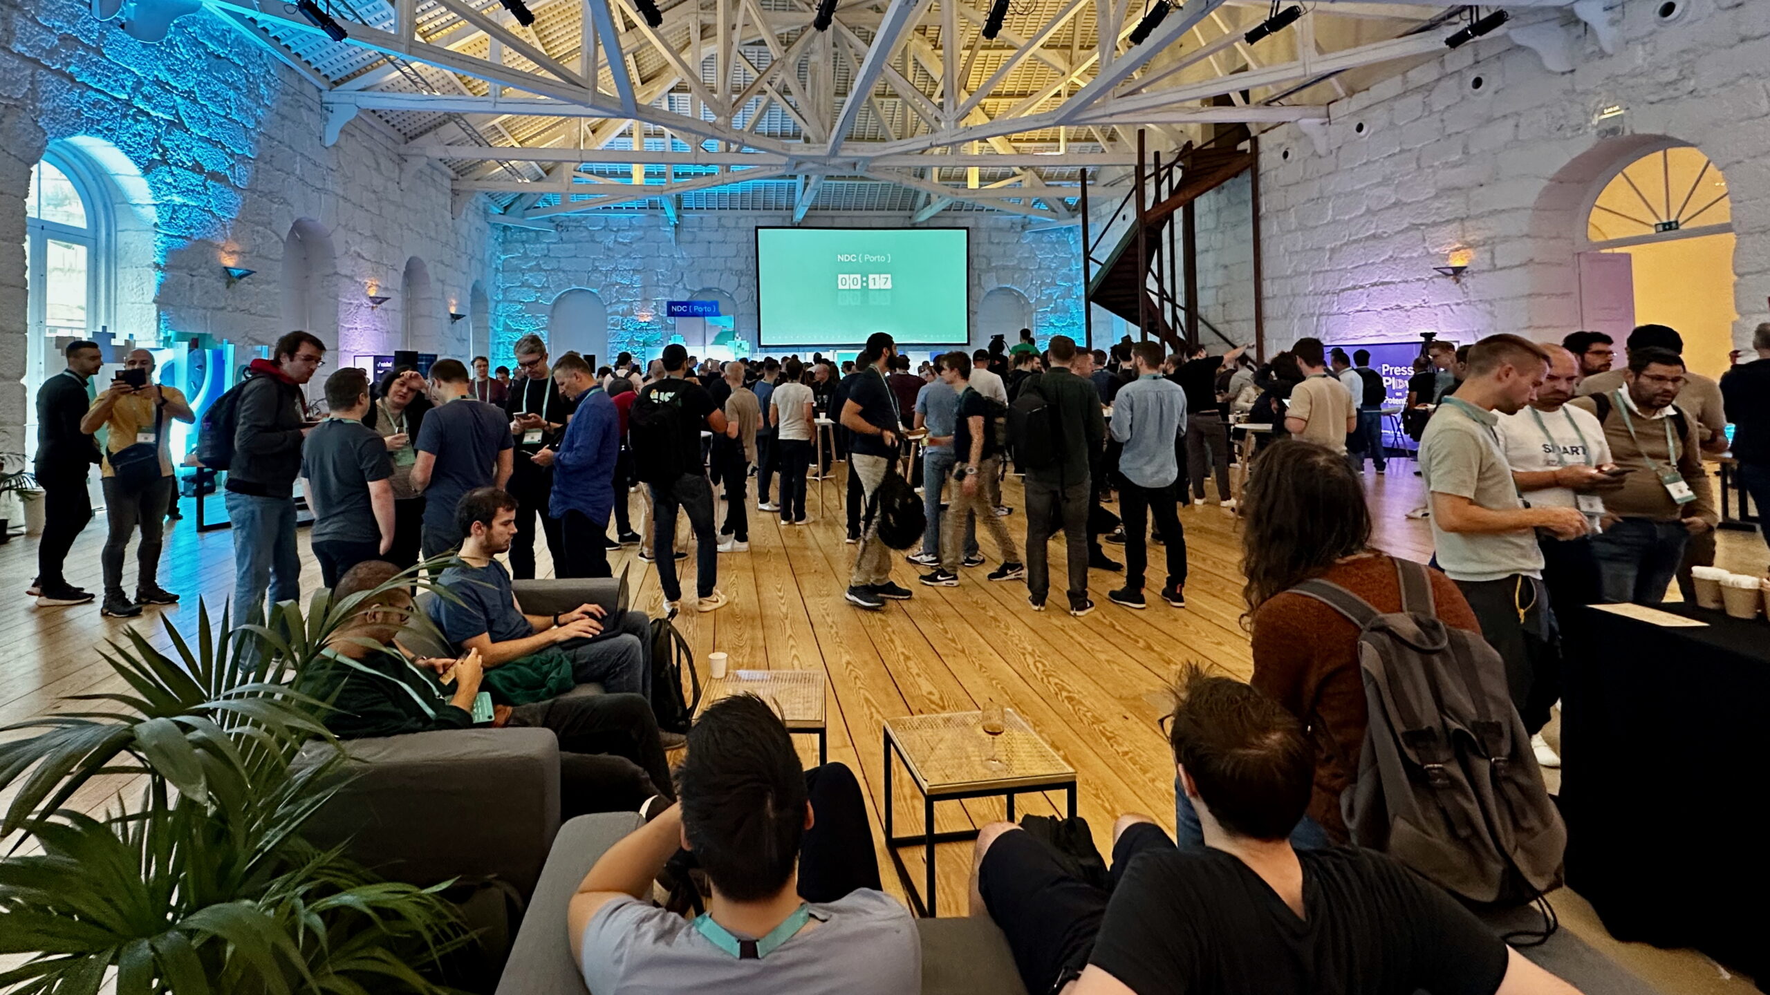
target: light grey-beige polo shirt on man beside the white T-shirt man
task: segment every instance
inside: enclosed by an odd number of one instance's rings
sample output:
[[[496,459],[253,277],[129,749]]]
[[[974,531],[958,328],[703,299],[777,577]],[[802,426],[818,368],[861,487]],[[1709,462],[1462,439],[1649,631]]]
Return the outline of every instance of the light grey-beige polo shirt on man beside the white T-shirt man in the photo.
[[[1481,508],[1522,508],[1512,466],[1499,446],[1499,414],[1446,398],[1420,439],[1420,473],[1427,494],[1467,498]],[[1451,581],[1501,581],[1513,574],[1542,577],[1543,552],[1536,529],[1512,533],[1448,533],[1432,517],[1439,568]]]

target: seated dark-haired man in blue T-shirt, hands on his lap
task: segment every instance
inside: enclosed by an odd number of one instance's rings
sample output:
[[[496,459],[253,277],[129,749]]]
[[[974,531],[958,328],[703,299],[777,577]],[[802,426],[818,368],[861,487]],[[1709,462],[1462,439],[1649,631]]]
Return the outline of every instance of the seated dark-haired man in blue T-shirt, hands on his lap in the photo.
[[[455,597],[439,597],[432,609],[453,646],[478,650],[487,669],[540,652],[565,653],[577,683],[600,683],[611,694],[651,699],[644,613],[605,620],[602,605],[586,604],[565,614],[524,614],[512,593],[510,572],[496,559],[517,535],[517,499],[497,487],[469,490],[455,508],[455,522],[462,536],[460,561],[437,577],[437,586]]]

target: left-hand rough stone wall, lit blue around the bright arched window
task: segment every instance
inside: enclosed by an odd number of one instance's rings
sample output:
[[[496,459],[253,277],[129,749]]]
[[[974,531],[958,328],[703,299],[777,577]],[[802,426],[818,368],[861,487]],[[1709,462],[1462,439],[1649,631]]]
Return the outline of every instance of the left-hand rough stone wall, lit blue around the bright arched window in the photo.
[[[21,451],[28,404],[25,191],[57,140],[92,140],[138,174],[120,186],[135,179],[152,205],[136,250],[145,258],[124,260],[145,276],[119,282],[119,338],[274,342],[289,331],[283,243],[304,218],[329,232],[336,255],[336,274],[317,280],[338,303],[336,324],[329,313],[320,322],[336,329],[329,368],[400,342],[407,301],[370,310],[363,296],[370,282],[396,294],[409,257],[428,264],[435,324],[414,343],[466,347],[471,322],[450,328],[446,312],[450,299],[466,310],[476,280],[490,285],[483,207],[457,218],[448,170],[404,165],[391,131],[359,119],[326,147],[322,124],[319,90],[219,14],[179,18],[147,44],[78,0],[0,4],[0,451]],[[228,289],[223,262],[258,273]]]

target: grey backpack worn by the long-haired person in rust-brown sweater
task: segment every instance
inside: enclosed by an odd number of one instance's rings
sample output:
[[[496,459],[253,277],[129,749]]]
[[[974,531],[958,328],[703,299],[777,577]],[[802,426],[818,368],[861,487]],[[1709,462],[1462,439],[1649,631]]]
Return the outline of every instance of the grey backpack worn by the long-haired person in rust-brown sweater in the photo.
[[[1322,579],[1292,593],[1359,627],[1370,726],[1340,807],[1352,843],[1474,905],[1526,905],[1561,885],[1566,827],[1549,798],[1506,666],[1439,621],[1427,568],[1397,559],[1402,611],[1381,614]]]

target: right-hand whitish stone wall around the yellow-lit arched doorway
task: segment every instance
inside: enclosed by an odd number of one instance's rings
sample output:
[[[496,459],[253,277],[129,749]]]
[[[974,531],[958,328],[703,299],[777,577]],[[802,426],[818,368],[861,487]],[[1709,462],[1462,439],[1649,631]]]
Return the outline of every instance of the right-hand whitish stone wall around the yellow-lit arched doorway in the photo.
[[[1446,51],[1335,103],[1326,152],[1294,124],[1266,135],[1267,351],[1304,335],[1393,342],[1423,329],[1458,342],[1496,331],[1559,340],[1577,328],[1575,234],[1595,184],[1666,140],[1699,147],[1728,179],[1735,340],[1749,345],[1770,294],[1770,4],[1682,2],[1673,23],[1657,18],[1658,4],[1612,4],[1614,55],[1565,12],[1572,73],[1497,39]],[[1630,135],[1600,140],[1595,117],[1612,104],[1627,108]],[[1230,237],[1246,221],[1223,218],[1230,227],[1204,253],[1200,283],[1239,289],[1241,301],[1220,306],[1251,315],[1246,250]],[[1462,283],[1432,273],[1457,248],[1471,253]]]

